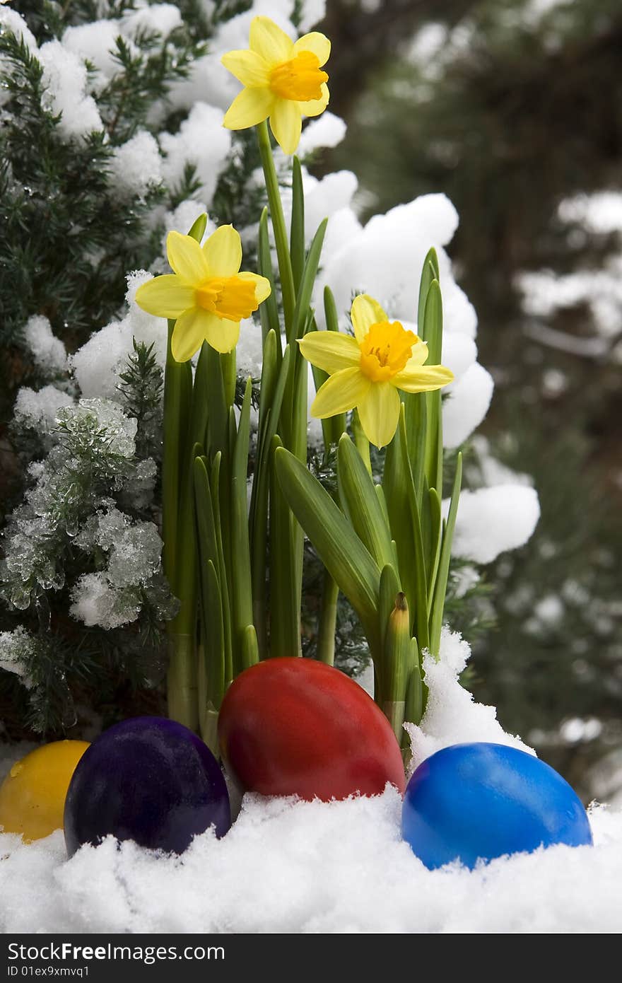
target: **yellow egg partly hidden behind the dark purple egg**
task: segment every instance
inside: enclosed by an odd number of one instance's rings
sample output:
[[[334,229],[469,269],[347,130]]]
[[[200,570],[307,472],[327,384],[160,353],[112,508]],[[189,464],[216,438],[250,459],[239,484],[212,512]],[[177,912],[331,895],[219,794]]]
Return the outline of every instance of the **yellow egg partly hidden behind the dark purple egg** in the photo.
[[[27,842],[62,830],[69,782],[87,747],[84,740],[58,740],[16,762],[0,785],[0,830]]]

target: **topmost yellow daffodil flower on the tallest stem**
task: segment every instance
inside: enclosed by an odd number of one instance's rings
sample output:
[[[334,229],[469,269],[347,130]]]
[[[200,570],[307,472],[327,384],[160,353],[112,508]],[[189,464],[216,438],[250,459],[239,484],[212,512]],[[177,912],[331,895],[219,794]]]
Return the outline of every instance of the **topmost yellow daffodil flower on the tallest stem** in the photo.
[[[269,17],[251,22],[250,49],[229,51],[222,64],[244,88],[224,118],[229,130],[246,130],[269,117],[285,153],[294,153],[303,116],[319,116],[328,104],[328,76],[321,71],[330,41],[313,30],[297,41]]]

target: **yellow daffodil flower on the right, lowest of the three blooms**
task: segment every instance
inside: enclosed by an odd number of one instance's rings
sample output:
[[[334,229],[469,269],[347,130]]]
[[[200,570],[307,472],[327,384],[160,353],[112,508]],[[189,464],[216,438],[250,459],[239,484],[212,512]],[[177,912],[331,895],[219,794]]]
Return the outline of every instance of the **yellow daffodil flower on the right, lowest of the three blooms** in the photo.
[[[399,320],[389,321],[368,294],[356,297],[350,312],[354,334],[311,331],[299,344],[305,358],[330,376],[317,390],[311,416],[323,420],[359,411],[371,443],[393,439],[403,392],[430,392],[453,379],[444,366],[426,366],[427,345]]]

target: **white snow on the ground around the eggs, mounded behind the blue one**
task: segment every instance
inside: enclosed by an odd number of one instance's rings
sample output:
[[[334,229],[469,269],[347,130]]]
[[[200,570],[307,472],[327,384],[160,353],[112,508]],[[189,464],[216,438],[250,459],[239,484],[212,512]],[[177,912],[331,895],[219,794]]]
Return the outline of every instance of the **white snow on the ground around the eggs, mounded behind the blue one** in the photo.
[[[469,654],[460,636],[445,631],[441,653],[440,663],[425,662],[430,695],[414,734],[417,760],[463,740],[525,748],[460,686]],[[424,867],[401,838],[401,798],[390,785],[329,803],[248,793],[224,838],[207,831],[181,857],[107,838],[67,860],[60,831],[28,845],[0,834],[8,899],[0,930],[617,933],[622,811],[594,805],[590,820],[594,847],[553,846],[474,871]]]

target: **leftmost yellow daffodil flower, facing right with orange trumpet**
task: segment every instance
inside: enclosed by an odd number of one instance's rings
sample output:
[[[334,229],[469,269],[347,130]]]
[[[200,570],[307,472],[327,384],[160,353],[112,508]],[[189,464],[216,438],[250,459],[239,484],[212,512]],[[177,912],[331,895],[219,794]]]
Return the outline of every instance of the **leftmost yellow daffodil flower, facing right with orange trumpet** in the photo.
[[[250,318],[270,294],[270,281],[239,272],[240,234],[221,225],[199,246],[192,236],[169,232],[166,255],[172,273],[139,287],[137,304],[157,318],[176,318],[171,350],[187,362],[207,341],[217,352],[230,352],[240,337],[240,321]]]

